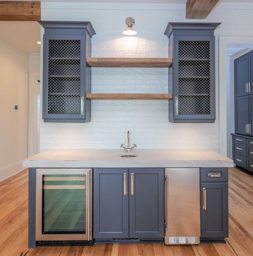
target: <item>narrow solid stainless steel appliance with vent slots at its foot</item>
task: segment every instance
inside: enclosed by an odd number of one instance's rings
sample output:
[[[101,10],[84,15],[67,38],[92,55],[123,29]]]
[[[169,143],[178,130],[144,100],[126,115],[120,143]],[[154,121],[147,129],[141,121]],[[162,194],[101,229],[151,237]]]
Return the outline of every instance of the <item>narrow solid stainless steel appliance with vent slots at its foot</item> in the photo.
[[[200,243],[199,168],[165,168],[164,243]]]

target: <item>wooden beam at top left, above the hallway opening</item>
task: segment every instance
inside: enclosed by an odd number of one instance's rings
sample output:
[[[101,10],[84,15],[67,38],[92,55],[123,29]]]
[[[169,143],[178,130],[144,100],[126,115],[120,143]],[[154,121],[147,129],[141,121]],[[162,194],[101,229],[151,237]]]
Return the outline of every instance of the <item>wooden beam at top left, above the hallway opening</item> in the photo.
[[[0,1],[0,20],[40,20],[40,2]]]

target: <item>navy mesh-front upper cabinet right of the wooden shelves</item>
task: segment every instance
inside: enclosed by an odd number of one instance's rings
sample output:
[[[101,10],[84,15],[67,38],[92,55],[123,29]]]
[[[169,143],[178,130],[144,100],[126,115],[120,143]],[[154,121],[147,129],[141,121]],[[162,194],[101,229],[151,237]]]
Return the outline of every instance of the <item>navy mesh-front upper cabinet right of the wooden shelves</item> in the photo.
[[[220,23],[169,23],[169,121],[215,121],[215,38]]]

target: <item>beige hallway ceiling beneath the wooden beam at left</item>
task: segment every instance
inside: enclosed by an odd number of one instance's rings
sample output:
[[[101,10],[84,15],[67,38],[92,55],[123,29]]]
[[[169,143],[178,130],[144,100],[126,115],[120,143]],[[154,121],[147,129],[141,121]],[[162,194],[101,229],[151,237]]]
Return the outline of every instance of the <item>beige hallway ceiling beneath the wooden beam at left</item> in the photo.
[[[0,41],[23,53],[39,54],[40,24],[28,21],[0,21]]]

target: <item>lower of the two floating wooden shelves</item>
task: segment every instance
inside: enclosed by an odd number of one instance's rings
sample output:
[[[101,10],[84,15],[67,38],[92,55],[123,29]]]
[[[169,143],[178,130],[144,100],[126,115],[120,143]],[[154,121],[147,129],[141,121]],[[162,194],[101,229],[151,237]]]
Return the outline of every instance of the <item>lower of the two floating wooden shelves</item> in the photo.
[[[172,94],[153,93],[86,93],[92,100],[171,100]]]

